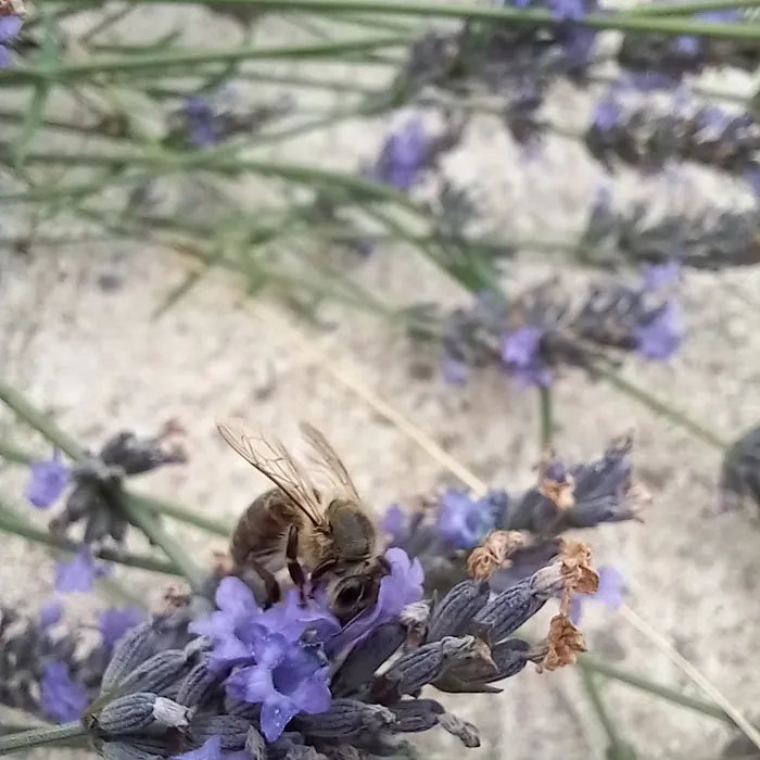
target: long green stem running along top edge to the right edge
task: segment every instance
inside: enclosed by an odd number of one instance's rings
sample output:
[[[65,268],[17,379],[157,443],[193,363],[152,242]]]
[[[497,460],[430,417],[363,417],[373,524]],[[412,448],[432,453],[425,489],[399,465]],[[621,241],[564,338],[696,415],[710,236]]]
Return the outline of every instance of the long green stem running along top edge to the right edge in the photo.
[[[140,0],[145,2],[147,0]],[[167,0],[183,2],[185,0]],[[278,13],[293,11],[341,13],[357,11],[359,13],[400,14],[413,16],[433,16],[449,18],[471,18],[480,21],[512,21],[530,24],[550,24],[559,22],[553,13],[544,10],[525,10],[516,8],[486,8],[470,5],[446,5],[438,3],[405,2],[403,0],[205,0],[206,5],[219,3],[236,3],[248,7],[269,8]],[[700,7],[701,5],[697,5]],[[692,21],[684,23],[679,20],[649,16],[645,13],[595,13],[587,15],[583,23],[595,29],[620,29],[621,31],[649,31],[664,35],[702,35],[723,39],[758,39],[760,28],[748,24],[714,24]],[[97,68],[98,63],[87,64]],[[65,71],[65,69],[62,69]],[[0,79],[1,80],[1,79]]]

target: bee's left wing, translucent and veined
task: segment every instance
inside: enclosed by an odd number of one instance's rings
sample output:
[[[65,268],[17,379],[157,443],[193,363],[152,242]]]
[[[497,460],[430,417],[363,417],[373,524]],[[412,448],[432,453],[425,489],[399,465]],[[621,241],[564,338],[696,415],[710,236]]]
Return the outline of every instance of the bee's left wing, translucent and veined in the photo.
[[[324,509],[314,483],[279,441],[270,443],[262,435],[235,431],[227,425],[216,427],[221,438],[280,489],[311,522],[315,525],[324,522]]]

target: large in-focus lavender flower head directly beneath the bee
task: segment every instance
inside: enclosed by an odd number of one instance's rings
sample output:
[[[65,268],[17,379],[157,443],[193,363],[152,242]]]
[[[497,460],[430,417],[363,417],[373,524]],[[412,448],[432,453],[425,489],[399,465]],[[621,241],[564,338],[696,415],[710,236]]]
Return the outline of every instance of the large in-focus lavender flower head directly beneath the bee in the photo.
[[[497,692],[528,662],[554,670],[584,649],[569,605],[594,593],[598,575],[581,544],[563,544],[502,593],[480,573],[434,606],[421,601],[418,565],[401,549],[388,559],[389,593],[358,630],[341,628],[318,594],[263,609],[236,577],[219,582],[216,611],[197,618],[195,636],[179,646],[156,648],[152,622],[132,628],[84,717],[96,748],[109,760],[338,760],[403,753],[403,734],[435,726],[477,747],[477,729],[421,697],[426,685]],[[560,613],[548,637],[533,646],[512,638],[552,598]]]

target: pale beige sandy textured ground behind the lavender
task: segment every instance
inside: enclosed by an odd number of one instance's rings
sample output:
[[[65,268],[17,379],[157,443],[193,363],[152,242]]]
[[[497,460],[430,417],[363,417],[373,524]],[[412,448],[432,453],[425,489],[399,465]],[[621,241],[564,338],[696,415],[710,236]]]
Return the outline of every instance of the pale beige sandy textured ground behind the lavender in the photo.
[[[195,11],[185,17],[192,41],[227,40],[232,22]],[[136,35],[148,25],[169,28],[140,11]],[[214,35],[208,34],[208,28]],[[267,38],[299,37],[284,22],[267,22]],[[356,76],[344,68],[338,75]],[[377,71],[364,69],[377,79]],[[744,83],[737,83],[740,87]],[[267,90],[268,92],[268,90]],[[312,101],[318,101],[309,96]],[[592,99],[558,87],[553,112],[565,126],[583,124]],[[280,149],[280,157],[351,168],[377,150],[385,123],[346,123],[327,134]],[[521,238],[569,236],[584,218],[599,168],[578,143],[549,138],[545,153],[525,162],[494,118],[474,119],[447,172],[471,187],[494,226]],[[255,207],[257,183],[248,187]],[[616,181],[621,203],[643,194],[669,197],[683,207],[743,202],[739,189],[707,173],[689,174],[677,192],[663,179],[642,181],[623,173]],[[12,224],[14,219],[10,219]],[[179,417],[188,429],[192,464],[150,476],[140,487],[195,509],[233,519],[262,483],[220,441],[214,421],[242,417],[293,440],[308,419],[343,453],[347,466],[378,509],[425,492],[451,476],[407,436],[346,391],[287,335],[258,321],[227,279],[206,280],[161,319],[152,312],[181,279],[183,263],[165,252],[126,243],[67,251],[39,250],[33,259],[2,254],[0,325],[3,373],[48,409],[83,443],[97,445],[119,428],[154,430]],[[509,287],[557,270],[528,253],[508,270]],[[389,300],[454,304],[464,294],[401,248],[385,248],[355,270],[365,286]],[[121,287],[104,291],[103,275]],[[582,283],[583,275],[568,281]],[[739,292],[755,306],[736,297]],[[732,438],[758,421],[760,379],[760,276],[688,274],[683,287],[689,340],[668,366],[631,362],[626,376],[687,410],[721,435]],[[537,456],[534,397],[486,373],[464,390],[440,376],[420,379],[425,356],[371,318],[338,307],[330,328],[314,337],[341,366],[377,390],[420,429],[487,482],[519,490],[531,482]],[[311,333],[312,334],[312,333]],[[434,357],[429,364],[434,367]],[[615,563],[629,583],[629,604],[694,663],[732,701],[749,712],[760,699],[760,522],[756,509],[721,515],[715,508],[719,453],[655,418],[611,388],[569,375],[558,385],[557,447],[571,459],[591,458],[618,433],[635,429],[636,461],[655,502],[642,525],[605,528],[586,534],[599,563]],[[37,446],[0,416],[2,434]],[[3,492],[21,494],[25,473],[0,472]],[[35,515],[34,517],[39,517]],[[177,528],[199,559],[212,543]],[[220,545],[220,544],[219,544]],[[40,548],[3,540],[1,599],[34,609],[50,595],[52,560]],[[123,577],[124,573],[117,573]],[[161,594],[154,577],[131,573],[151,598]],[[91,619],[91,600],[74,600],[72,619]],[[593,650],[684,693],[696,694],[683,673],[620,616],[588,606],[584,629]],[[541,619],[539,630],[548,616]],[[641,757],[670,760],[714,758],[729,736],[724,724],[670,706],[628,686],[605,683],[604,694],[621,732]],[[599,726],[580,688],[578,673],[539,675],[532,670],[507,684],[499,698],[465,700],[459,712],[484,734],[480,757],[505,760],[601,758]],[[757,712],[756,712],[757,717]],[[460,752],[441,738],[441,757]],[[473,753],[472,757],[476,755]]]

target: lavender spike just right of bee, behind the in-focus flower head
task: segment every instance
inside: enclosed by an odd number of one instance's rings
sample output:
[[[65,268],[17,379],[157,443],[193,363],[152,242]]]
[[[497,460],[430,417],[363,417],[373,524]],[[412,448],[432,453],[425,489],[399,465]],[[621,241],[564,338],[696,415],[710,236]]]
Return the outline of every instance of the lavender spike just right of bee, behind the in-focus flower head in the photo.
[[[491,579],[494,587],[505,587],[556,557],[565,531],[638,519],[649,497],[633,479],[632,446],[622,438],[590,464],[547,459],[537,484],[520,496],[490,491],[473,497],[447,490],[408,515],[392,505],[382,529],[392,545],[419,558],[428,590],[439,592],[466,577],[472,547],[493,531],[514,532],[510,562]]]

